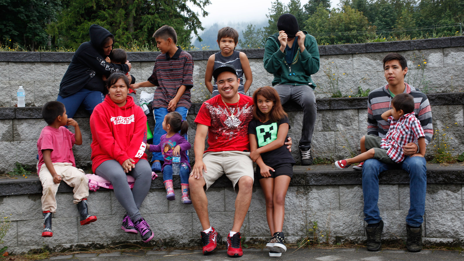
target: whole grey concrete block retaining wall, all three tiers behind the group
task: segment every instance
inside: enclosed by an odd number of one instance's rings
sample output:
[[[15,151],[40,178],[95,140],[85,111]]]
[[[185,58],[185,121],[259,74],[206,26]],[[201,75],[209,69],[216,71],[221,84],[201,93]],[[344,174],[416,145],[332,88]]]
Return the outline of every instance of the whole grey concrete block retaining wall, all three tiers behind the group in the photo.
[[[406,80],[413,85],[421,86],[422,90],[429,91],[433,124],[439,130],[435,137],[448,137],[447,145],[450,146],[451,152],[462,153],[464,93],[433,93],[460,91],[464,86],[464,69],[459,66],[464,63],[462,46],[464,37],[319,46],[321,70],[314,76],[319,85],[316,88],[318,115],[312,144],[314,156],[339,159],[357,153],[359,139],[366,133],[367,128],[367,98],[328,97],[337,90],[337,86],[340,86],[338,90],[342,93],[351,93],[350,88],[356,92],[358,86],[366,90],[383,85],[381,59],[387,52],[393,51],[400,51],[408,59],[410,70]],[[270,85],[272,75],[264,71],[263,50],[244,51],[250,58],[254,77],[250,93],[260,86]],[[187,119],[190,123],[189,139],[193,141],[196,127],[193,119],[200,108],[200,102],[209,97],[209,92],[204,87],[203,76],[206,59],[213,51],[190,53],[195,60],[195,85],[192,90],[195,104],[190,109]],[[151,74],[157,54],[129,53],[133,65],[132,73],[138,80],[144,80]],[[19,85],[25,87],[28,106],[41,106],[46,101],[55,100],[59,82],[71,57],[72,53],[0,52],[0,86],[3,97],[0,106],[16,104],[15,93]],[[331,89],[332,87],[335,90]],[[145,89],[150,90],[153,91],[153,88]],[[45,126],[45,121],[40,117],[40,110],[40,107],[0,108],[0,158],[3,159],[0,162],[0,171],[12,170],[15,161],[35,165],[36,142],[40,130]],[[289,113],[292,126],[290,136],[294,139],[293,156],[299,162],[296,145],[301,135],[303,115],[301,108],[295,104],[287,104],[285,110]],[[75,119],[81,126],[83,144],[73,148],[74,154],[77,165],[88,170],[91,143],[89,115],[78,111]],[[149,115],[148,119],[153,126],[152,115]],[[428,146],[427,157],[432,156],[433,145],[436,144],[437,141],[434,140]],[[193,156],[193,150],[190,152]],[[193,162],[193,157],[191,159]],[[430,244],[462,246],[462,167],[437,167],[433,171],[433,165],[428,167],[425,241]],[[320,231],[330,231],[331,241],[362,242],[365,235],[360,172],[334,172],[331,170],[333,167],[322,170],[318,168],[319,166],[311,166],[310,169],[295,169],[286,200],[284,231],[287,240],[297,242],[307,235],[312,222],[318,222]],[[384,237],[404,237],[404,218],[409,207],[407,175],[401,171],[387,172],[381,180],[379,207],[386,223]],[[179,183],[178,180],[176,182]],[[176,186],[178,194],[180,186]],[[63,184],[57,195],[59,209],[53,219],[54,236],[50,239],[41,238],[40,190],[36,177],[20,179],[15,183],[0,179],[0,213],[5,216],[11,214],[13,226],[8,230],[5,241],[13,253],[42,248],[44,244],[46,247],[62,250],[79,246],[92,248],[121,242],[141,243],[137,236],[125,234],[119,229],[124,211],[112,191],[102,190],[90,194],[90,211],[98,216],[98,221],[81,227],[78,225],[75,206],[71,203],[71,190]],[[209,199],[214,199],[209,205],[212,223],[220,233],[226,235],[232,226],[235,199],[233,190],[223,180],[207,195]],[[242,228],[247,242],[267,239],[264,208],[262,192],[259,187],[255,187],[250,211]],[[193,207],[182,205],[179,200],[166,201],[160,178],[152,183],[152,189],[142,205],[142,214],[158,233],[153,244],[199,245],[197,236],[200,222]],[[158,241],[159,239],[162,241]]]

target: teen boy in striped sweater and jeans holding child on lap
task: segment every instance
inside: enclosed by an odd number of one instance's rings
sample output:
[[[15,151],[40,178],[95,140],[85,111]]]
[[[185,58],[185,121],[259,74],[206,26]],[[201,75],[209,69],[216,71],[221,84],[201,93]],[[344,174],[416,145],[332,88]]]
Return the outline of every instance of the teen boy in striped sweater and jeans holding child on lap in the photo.
[[[389,124],[381,115],[391,108],[392,98],[399,93],[409,93],[414,98],[414,112],[425,133],[425,144],[432,139],[432,111],[427,96],[404,82],[407,73],[406,59],[398,53],[389,53],[383,59],[385,79],[388,84],[369,93],[367,99],[367,134],[385,137]],[[362,168],[362,192],[364,196],[364,220],[367,222],[367,250],[379,251],[383,221],[377,202],[379,200],[379,174],[384,170],[402,168],[409,173],[410,209],[406,216],[406,248],[410,252],[422,249],[422,222],[425,212],[427,185],[425,158],[411,157],[417,153],[417,143],[403,146],[405,160],[399,164],[382,163],[368,159]]]

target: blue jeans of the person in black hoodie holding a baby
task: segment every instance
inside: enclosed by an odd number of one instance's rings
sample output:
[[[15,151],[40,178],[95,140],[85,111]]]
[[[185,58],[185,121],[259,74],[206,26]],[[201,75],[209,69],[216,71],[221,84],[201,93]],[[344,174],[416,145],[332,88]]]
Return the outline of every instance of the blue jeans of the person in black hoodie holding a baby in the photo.
[[[57,101],[64,104],[68,118],[72,118],[81,104],[84,104],[85,110],[92,114],[95,106],[102,103],[104,99],[105,96],[101,91],[90,91],[82,88],[66,98],[58,95]]]

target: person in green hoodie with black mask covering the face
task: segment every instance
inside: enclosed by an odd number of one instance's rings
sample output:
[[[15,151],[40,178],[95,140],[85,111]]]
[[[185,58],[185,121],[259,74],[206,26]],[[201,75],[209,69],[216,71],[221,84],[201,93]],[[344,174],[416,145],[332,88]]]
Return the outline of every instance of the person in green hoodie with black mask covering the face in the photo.
[[[299,31],[295,16],[285,13],[277,20],[278,33],[266,39],[264,69],[274,75],[272,86],[282,104],[293,100],[303,108],[303,130],[299,143],[302,165],[311,165],[311,139],[316,123],[316,84],[311,74],[319,71],[316,39]]]

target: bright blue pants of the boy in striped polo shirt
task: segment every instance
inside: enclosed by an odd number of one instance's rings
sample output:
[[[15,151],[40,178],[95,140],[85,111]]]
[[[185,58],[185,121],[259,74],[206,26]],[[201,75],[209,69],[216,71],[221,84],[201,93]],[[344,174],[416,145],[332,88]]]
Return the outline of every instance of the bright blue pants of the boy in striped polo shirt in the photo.
[[[175,111],[180,113],[180,116],[182,116],[182,120],[184,121],[186,120],[187,113],[188,113],[188,109],[186,107],[177,107]],[[153,130],[153,145],[160,144],[161,136],[166,134],[166,131],[163,130],[163,121],[164,121],[164,116],[166,116],[166,114],[168,113],[169,111],[167,108],[153,108],[153,116],[155,117],[155,129]],[[188,141],[187,133],[184,135],[184,137]],[[164,161],[161,151],[152,152],[152,155],[153,155],[153,157],[151,158],[152,162],[154,160],[159,160],[161,162]],[[187,161],[190,162],[190,159],[188,158],[188,150],[187,150]]]

